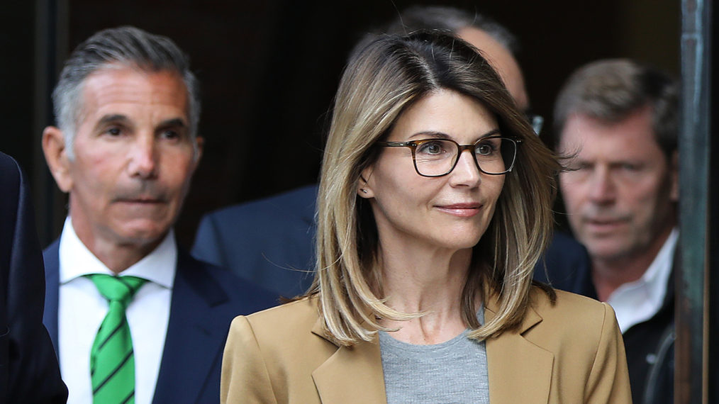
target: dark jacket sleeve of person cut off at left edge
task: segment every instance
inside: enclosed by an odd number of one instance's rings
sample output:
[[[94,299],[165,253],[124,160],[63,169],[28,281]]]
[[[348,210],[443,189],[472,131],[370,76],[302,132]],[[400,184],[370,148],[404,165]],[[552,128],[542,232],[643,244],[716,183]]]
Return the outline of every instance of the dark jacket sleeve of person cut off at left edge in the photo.
[[[29,190],[0,153],[0,402],[65,403],[68,389],[42,325],[45,277]]]

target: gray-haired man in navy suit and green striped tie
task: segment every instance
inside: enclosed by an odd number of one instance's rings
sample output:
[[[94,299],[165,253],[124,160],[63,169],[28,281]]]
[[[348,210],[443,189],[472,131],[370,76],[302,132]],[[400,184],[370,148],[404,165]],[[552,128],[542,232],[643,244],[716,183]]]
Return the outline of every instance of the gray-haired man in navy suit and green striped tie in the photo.
[[[105,29],[70,55],[53,102],[42,147],[69,212],[45,250],[44,322],[69,402],[218,402],[230,321],[275,298],[175,243],[203,144],[186,55],[166,37]],[[122,298],[104,289],[123,285]],[[127,347],[116,365],[104,356],[115,344]]]

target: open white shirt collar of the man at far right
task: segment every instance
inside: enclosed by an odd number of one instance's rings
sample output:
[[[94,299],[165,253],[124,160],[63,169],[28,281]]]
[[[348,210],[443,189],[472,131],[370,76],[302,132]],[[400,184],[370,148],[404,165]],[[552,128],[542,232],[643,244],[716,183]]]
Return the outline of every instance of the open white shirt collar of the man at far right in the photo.
[[[634,282],[621,285],[607,299],[617,314],[622,333],[659,312],[667,295],[667,280],[672,273],[678,237],[679,231],[672,230],[644,275]]]

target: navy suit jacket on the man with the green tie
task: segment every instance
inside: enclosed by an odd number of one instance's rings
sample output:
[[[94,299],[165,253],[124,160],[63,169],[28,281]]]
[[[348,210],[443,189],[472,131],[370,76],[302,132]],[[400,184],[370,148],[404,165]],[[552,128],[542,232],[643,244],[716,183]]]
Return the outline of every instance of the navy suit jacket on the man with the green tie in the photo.
[[[59,240],[45,249],[45,326],[58,346]],[[220,366],[229,324],[240,313],[277,304],[273,293],[178,247],[165,349],[153,403],[219,402]]]

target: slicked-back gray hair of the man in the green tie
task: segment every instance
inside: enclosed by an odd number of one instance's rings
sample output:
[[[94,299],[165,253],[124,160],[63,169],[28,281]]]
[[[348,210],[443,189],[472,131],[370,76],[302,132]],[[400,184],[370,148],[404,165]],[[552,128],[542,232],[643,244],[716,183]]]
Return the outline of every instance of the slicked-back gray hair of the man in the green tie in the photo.
[[[169,70],[178,73],[188,92],[190,135],[192,139],[196,138],[200,119],[199,86],[190,71],[187,55],[168,37],[135,27],[103,29],[73,50],[52,91],[55,119],[64,133],[70,159],[74,157],[73,142],[83,109],[83,83],[88,75],[115,64],[150,72]]]

